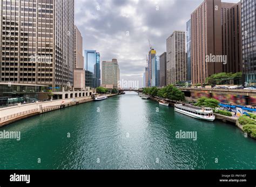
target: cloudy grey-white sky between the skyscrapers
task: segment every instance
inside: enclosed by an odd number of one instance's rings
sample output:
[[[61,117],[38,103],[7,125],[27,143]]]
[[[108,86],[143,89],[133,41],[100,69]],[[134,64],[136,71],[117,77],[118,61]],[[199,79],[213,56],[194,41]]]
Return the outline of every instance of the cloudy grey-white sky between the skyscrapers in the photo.
[[[100,53],[100,62],[117,59],[120,80],[143,87],[146,55],[166,52],[166,39],[186,22],[203,0],[75,0],[75,24],[83,50]],[[237,3],[239,0],[222,2]]]

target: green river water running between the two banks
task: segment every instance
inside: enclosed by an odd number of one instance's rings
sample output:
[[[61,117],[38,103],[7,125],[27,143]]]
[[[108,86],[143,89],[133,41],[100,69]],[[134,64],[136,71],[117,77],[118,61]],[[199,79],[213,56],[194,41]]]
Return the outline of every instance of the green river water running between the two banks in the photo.
[[[256,141],[136,92],[43,113],[0,128],[0,169],[256,169]],[[192,131],[197,139],[176,138]]]

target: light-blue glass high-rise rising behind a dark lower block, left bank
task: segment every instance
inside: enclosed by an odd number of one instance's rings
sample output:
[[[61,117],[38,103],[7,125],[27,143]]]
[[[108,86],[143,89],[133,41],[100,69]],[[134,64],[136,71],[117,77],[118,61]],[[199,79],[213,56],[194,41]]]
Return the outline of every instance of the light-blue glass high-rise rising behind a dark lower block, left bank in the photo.
[[[100,85],[100,54],[96,50],[84,51],[84,68],[93,74],[93,88]]]

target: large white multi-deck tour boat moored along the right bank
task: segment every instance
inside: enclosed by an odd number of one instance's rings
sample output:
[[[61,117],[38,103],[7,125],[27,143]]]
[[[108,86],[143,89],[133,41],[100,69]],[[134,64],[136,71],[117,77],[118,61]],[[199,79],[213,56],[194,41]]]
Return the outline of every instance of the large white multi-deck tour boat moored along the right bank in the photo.
[[[183,113],[193,118],[207,121],[213,121],[215,119],[212,109],[208,107],[198,107],[188,104],[175,104],[174,111]]]

